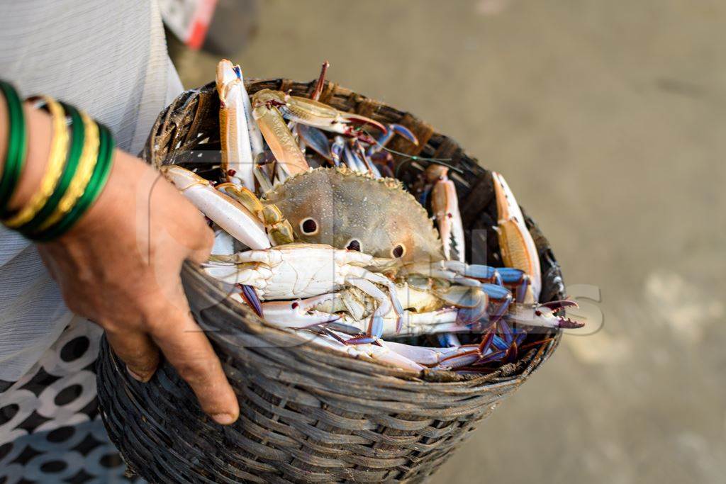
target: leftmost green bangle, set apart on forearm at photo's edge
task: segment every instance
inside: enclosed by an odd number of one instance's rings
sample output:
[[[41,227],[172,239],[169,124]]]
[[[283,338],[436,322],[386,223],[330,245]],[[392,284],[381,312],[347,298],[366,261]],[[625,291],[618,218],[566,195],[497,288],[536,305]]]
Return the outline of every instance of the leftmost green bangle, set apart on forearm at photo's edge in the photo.
[[[11,84],[0,81],[0,91],[7,104],[7,152],[5,155],[5,168],[0,176],[0,218],[9,215],[7,204],[15,192],[20,172],[25,165],[25,155],[28,152],[27,136],[25,134],[25,115],[23,102]]]

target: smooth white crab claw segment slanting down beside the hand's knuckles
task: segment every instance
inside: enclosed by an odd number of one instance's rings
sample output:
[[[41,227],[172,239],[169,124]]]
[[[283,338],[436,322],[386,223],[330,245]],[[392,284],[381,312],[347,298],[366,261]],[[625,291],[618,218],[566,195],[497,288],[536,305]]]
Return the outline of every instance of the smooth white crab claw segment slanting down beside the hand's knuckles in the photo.
[[[205,216],[253,249],[270,247],[264,226],[240,202],[214,189],[210,181],[177,165],[160,168],[163,176]]]

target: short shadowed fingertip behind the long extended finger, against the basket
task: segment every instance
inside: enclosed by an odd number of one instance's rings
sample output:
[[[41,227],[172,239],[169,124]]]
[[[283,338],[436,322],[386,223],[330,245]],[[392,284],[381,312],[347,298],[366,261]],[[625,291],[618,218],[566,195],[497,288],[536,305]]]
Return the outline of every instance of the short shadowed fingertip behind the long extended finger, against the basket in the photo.
[[[148,382],[157,366],[159,352],[147,335],[142,332],[106,329],[106,339],[116,355],[126,363],[131,377]]]

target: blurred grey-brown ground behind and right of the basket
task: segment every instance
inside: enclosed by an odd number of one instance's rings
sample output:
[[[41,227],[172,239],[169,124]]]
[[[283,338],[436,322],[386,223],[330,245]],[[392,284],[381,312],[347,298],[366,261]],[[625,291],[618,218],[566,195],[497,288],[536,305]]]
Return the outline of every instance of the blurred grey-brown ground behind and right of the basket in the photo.
[[[328,78],[503,173],[592,335],[505,401],[433,483],[726,480],[726,3],[219,0],[187,88]],[[211,51],[211,53],[209,52]]]

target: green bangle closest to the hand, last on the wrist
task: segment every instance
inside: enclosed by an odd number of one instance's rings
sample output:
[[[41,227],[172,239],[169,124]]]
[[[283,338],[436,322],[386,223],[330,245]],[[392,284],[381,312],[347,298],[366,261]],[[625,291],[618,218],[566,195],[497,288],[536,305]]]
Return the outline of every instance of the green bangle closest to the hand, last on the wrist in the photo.
[[[91,181],[86,186],[86,191],[83,192],[81,198],[78,199],[76,205],[66,216],[60,219],[58,223],[49,227],[46,231],[41,234],[36,234],[33,239],[39,242],[49,242],[52,239],[57,239],[62,234],[65,234],[70,230],[76,222],[83,216],[84,213],[91,207],[93,202],[96,201],[99,194],[101,194],[103,187],[106,185],[109,173],[111,171],[111,165],[113,164],[113,149],[115,144],[113,142],[113,136],[111,135],[108,128],[102,124],[98,124],[99,128],[99,150],[98,150],[98,162],[94,168]]]

